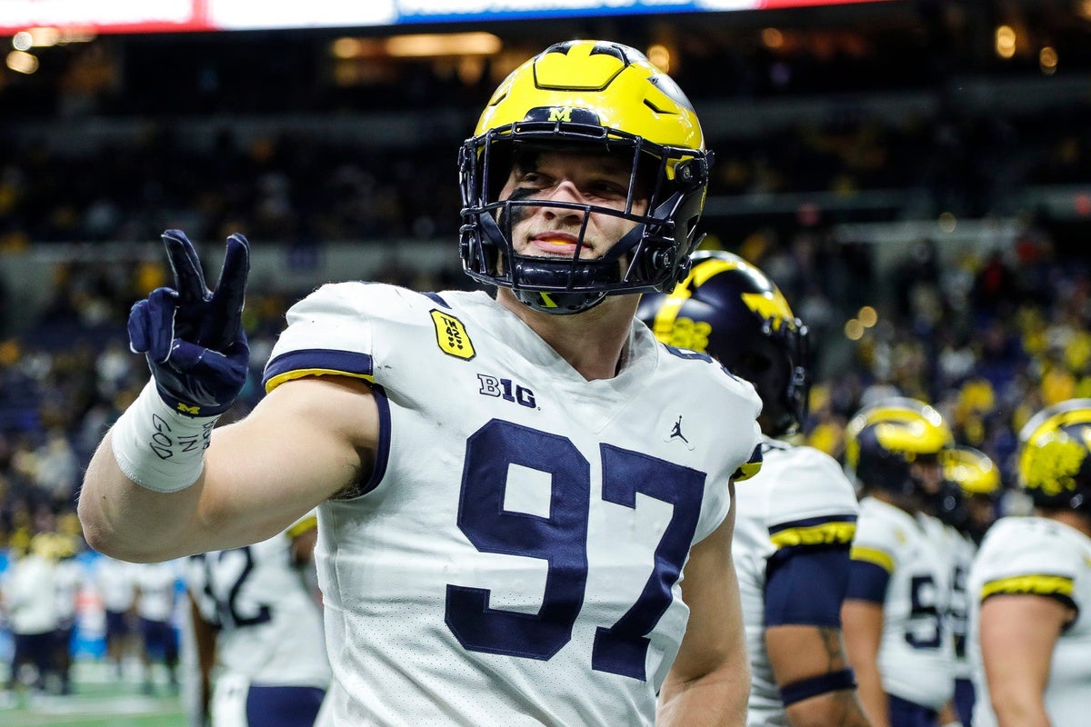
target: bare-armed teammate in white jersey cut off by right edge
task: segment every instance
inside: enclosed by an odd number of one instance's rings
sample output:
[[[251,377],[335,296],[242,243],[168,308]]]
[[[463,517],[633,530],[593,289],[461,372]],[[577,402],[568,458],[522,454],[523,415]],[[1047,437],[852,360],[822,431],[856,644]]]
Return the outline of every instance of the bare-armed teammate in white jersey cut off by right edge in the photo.
[[[1020,431],[1033,517],[994,524],[970,570],[973,727],[1091,720],[1091,399]]]

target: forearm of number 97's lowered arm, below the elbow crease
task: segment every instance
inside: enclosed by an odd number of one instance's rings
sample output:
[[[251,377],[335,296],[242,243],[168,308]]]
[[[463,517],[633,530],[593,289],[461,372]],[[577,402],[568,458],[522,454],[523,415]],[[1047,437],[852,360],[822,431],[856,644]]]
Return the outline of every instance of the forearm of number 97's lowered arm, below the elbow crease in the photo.
[[[745,664],[745,661],[742,663]],[[660,692],[658,727],[742,727],[750,669],[740,664],[691,681],[668,681]]]

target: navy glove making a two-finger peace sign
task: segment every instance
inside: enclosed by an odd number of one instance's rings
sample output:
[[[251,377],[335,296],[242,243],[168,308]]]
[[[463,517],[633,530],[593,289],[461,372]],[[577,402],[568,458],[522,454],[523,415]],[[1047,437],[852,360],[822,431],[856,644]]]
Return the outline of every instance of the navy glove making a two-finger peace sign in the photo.
[[[175,287],[157,288],[129,313],[129,346],[147,358],[163,400],[190,416],[227,411],[247,381],[250,348],[242,303],[250,243],[227,239],[215,292],[205,286],[193,243],[181,230],[163,233]]]

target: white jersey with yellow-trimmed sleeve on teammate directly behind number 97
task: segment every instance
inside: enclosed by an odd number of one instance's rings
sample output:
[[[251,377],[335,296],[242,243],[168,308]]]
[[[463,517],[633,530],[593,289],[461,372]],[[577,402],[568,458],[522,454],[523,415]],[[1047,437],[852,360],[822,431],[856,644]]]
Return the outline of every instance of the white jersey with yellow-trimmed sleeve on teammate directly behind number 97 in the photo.
[[[750,727],[789,725],[765,646],[769,558],[784,547],[851,543],[859,511],[855,490],[841,465],[813,447],[766,439],[760,472],[735,485],[731,549],[751,658]]]

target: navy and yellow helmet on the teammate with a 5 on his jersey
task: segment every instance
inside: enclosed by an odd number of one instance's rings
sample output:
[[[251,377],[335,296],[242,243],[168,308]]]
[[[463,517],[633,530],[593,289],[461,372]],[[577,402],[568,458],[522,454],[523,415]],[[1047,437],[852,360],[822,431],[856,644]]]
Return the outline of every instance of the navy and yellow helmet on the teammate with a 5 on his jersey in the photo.
[[[846,431],[846,461],[865,486],[901,497],[925,497],[914,462],[943,464],[954,446],[950,427],[934,408],[890,398],[856,412]]]

